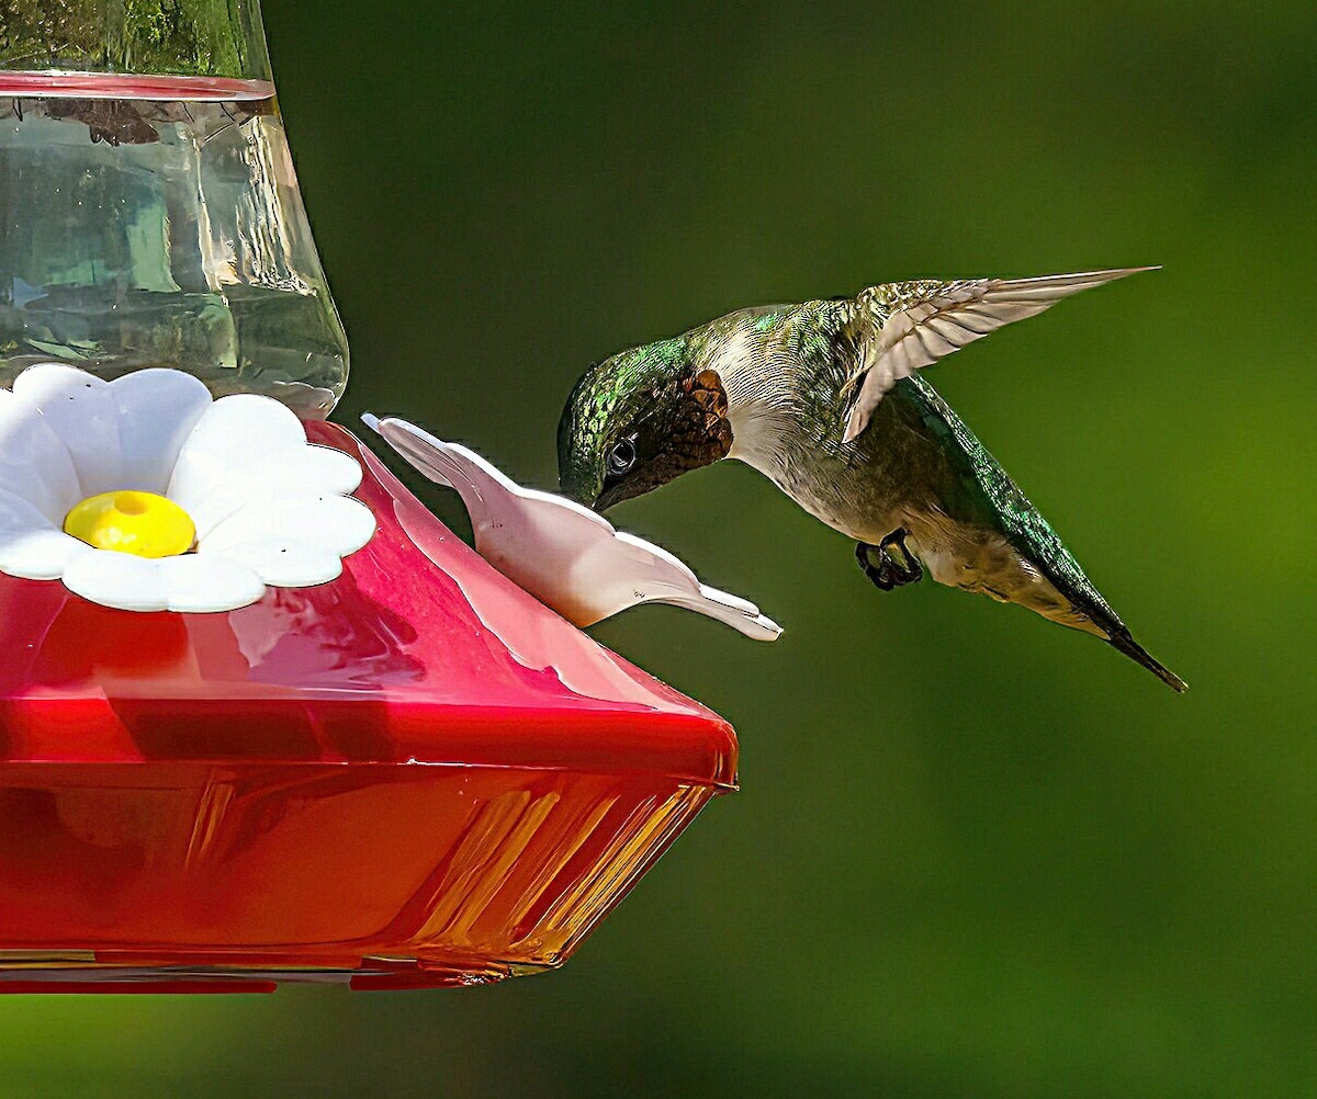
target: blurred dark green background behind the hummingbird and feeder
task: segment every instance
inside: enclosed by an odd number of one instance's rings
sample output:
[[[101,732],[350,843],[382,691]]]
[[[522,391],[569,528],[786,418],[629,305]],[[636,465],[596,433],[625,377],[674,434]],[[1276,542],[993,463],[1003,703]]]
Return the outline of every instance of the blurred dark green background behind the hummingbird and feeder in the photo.
[[[564,970],[5,999],[0,1090],[1317,1092],[1310,0],[267,0],[266,26],[353,341],[337,419],[533,484],[586,365],[730,309],[1164,265],[930,376],[1193,690],[1017,608],[882,595],[723,463],[612,517],[782,641],[666,608],[594,633],[738,727],[743,790]]]

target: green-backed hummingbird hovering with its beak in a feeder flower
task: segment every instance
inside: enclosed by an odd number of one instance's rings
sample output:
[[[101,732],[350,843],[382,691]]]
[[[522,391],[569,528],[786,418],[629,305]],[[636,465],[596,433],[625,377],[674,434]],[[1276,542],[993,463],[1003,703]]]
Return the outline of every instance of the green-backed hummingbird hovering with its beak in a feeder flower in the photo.
[[[1092,633],[1176,691],[996,458],[918,372],[1150,267],[917,279],[740,309],[591,366],[558,422],[561,492],[595,511],[724,458],[856,544],[882,591],[934,580]]]

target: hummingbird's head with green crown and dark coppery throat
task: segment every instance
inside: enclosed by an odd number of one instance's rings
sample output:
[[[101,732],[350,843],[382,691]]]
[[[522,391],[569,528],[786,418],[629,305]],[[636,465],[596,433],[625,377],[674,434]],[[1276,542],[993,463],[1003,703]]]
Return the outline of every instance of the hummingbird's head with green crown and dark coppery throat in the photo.
[[[727,394],[695,371],[686,338],[664,340],[591,366],[558,421],[562,495],[595,511],[640,496],[727,455]]]

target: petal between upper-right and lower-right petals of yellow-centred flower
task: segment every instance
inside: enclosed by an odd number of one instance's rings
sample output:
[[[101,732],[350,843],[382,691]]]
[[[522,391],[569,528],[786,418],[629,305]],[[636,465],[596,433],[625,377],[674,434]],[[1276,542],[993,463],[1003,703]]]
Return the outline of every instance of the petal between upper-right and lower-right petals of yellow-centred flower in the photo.
[[[169,496],[196,524],[199,538],[245,507],[290,496],[348,494],[361,484],[361,463],[328,446],[284,447],[255,461],[180,461]]]

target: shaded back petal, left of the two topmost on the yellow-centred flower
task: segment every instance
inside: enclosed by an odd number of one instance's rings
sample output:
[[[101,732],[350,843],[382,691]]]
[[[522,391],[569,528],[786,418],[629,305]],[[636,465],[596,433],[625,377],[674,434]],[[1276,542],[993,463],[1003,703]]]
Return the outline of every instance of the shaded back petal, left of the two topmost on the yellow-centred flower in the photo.
[[[43,362],[14,378],[13,392],[41,412],[68,449],[83,496],[122,487],[119,405],[109,382],[67,363]]]

